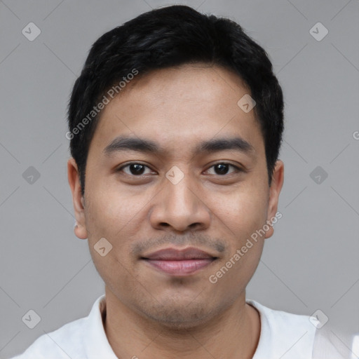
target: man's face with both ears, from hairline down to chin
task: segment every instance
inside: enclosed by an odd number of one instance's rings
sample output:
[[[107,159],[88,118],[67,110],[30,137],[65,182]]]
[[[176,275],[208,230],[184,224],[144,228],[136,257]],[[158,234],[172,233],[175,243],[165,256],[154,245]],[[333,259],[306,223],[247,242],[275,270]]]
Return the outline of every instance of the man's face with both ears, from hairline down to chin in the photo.
[[[276,216],[283,184],[278,161],[269,187],[259,123],[253,110],[238,107],[249,93],[221,67],[151,72],[104,108],[90,143],[83,202],[69,160],[76,236],[88,238],[107,291],[144,318],[191,326],[245,301],[273,229],[257,241],[251,235]],[[103,256],[95,249],[100,238]],[[144,259],[190,247],[207,258],[180,268]]]

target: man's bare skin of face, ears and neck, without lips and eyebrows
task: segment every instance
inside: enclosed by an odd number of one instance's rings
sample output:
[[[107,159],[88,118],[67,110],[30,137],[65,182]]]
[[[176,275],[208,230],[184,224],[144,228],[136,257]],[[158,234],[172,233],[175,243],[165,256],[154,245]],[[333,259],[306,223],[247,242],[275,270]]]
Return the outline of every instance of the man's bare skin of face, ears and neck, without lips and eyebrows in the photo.
[[[86,187],[76,162],[68,161],[77,220],[75,234],[88,238],[105,283],[104,330],[118,358],[252,358],[259,341],[259,313],[245,303],[265,236],[217,283],[208,278],[275,217],[283,186],[278,160],[268,184],[264,138],[254,111],[238,100],[250,93],[227,69],[204,64],[161,69],[128,84],[102,112],[90,143]],[[119,135],[153,140],[160,154],[104,148]],[[200,153],[199,142],[241,136],[255,151]],[[146,165],[141,175],[121,166]],[[214,166],[230,163],[221,174]],[[178,184],[165,177],[176,165]],[[100,238],[113,246],[104,257]],[[169,276],[140,259],[168,247],[201,248],[218,257],[190,276]]]

